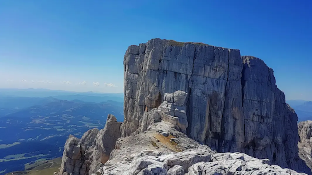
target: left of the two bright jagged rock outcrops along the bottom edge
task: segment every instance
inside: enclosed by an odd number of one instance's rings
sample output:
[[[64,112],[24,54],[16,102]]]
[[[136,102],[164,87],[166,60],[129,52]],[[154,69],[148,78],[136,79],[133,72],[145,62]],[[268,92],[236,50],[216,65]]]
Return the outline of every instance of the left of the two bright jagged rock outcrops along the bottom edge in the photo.
[[[157,152],[155,151],[146,151],[132,155],[133,159],[131,161],[115,160],[114,164],[110,164],[109,160],[107,164],[105,164],[97,171],[97,173],[102,175],[167,175],[170,172],[171,174],[177,174],[179,172],[184,172],[185,169],[187,170],[194,163],[210,161],[212,153],[213,152],[209,150],[194,149],[180,153],[171,153],[158,156]],[[176,165],[179,166],[177,167]]]

